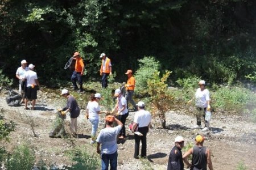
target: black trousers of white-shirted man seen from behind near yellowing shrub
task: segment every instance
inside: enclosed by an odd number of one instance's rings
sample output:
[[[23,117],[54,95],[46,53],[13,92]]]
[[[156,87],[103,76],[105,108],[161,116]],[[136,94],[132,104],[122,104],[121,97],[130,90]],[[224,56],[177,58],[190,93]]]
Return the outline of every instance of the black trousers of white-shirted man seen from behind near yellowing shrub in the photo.
[[[148,126],[138,128],[138,131],[143,134],[143,136],[139,136],[137,134],[134,134],[135,139],[135,151],[134,151],[134,158],[138,158],[139,156],[139,143],[142,142],[141,147],[141,157],[147,156],[147,132],[148,132]]]

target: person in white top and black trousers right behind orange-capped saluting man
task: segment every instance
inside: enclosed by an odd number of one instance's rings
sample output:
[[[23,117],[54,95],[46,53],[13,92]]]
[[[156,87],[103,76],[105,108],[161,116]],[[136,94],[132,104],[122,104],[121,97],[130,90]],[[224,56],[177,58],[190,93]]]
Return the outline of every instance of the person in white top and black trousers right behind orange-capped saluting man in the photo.
[[[123,124],[123,128],[119,133],[119,139],[123,139],[126,137],[125,122],[126,122],[126,118],[129,116],[129,112],[126,106],[127,102],[125,97],[123,97],[122,92],[119,88],[115,90],[114,96],[117,97],[117,104],[115,105],[113,110],[117,111],[117,114],[115,114],[115,116],[117,116],[118,120],[121,121]]]

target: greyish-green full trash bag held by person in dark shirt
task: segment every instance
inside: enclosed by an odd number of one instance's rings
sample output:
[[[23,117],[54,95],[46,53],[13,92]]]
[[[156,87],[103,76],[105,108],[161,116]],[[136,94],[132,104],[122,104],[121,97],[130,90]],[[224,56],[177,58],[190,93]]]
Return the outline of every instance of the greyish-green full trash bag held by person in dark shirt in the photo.
[[[69,134],[67,128],[65,128],[65,118],[67,116],[57,112],[56,118],[53,121],[53,128],[49,133],[50,138],[62,138],[65,135]]]

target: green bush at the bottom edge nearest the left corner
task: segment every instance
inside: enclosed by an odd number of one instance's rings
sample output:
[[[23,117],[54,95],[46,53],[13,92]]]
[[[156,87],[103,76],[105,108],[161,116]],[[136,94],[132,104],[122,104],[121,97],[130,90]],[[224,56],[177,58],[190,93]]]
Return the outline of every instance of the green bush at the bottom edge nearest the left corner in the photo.
[[[6,168],[9,170],[24,169],[31,170],[35,163],[35,154],[26,143],[15,148],[13,154],[9,155]]]

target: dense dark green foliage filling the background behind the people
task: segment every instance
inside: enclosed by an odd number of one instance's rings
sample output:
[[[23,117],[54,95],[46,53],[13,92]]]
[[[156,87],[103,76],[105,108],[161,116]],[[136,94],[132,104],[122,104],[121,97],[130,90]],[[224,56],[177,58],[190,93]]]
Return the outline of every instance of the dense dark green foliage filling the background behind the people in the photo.
[[[63,67],[79,51],[86,80],[100,80],[105,52],[120,82],[143,56],[154,56],[160,71],[174,71],[171,83],[193,75],[211,83],[255,82],[255,11],[253,0],[3,0],[0,66],[13,78],[27,59],[52,85],[69,79]]]

